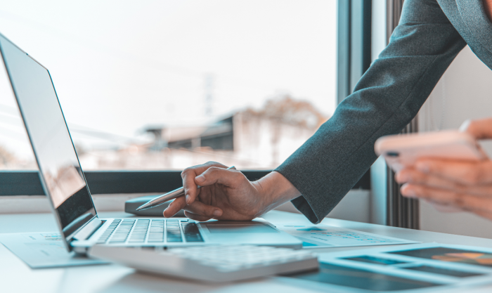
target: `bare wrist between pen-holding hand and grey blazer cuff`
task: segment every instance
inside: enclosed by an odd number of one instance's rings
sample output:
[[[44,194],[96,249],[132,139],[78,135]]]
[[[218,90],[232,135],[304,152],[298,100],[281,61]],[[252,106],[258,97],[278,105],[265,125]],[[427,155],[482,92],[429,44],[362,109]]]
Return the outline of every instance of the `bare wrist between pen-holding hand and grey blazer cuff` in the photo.
[[[262,200],[264,200],[263,208],[259,211],[259,214],[264,214],[281,204],[285,204],[285,202],[301,196],[299,190],[287,178],[276,171],[255,181],[254,185],[257,186],[259,193],[263,195]]]

